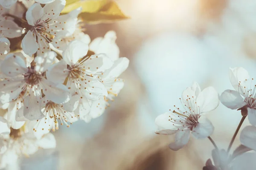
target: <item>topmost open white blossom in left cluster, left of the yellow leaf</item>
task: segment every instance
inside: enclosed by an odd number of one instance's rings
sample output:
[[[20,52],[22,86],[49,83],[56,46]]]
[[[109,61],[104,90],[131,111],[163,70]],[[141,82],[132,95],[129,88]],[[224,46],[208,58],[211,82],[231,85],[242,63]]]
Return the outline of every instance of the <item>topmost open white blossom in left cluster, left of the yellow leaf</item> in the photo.
[[[38,52],[40,55],[50,51],[49,43],[59,48],[58,40],[73,34],[77,17],[69,14],[59,16],[65,4],[65,0],[55,0],[47,3],[43,8],[40,3],[29,7],[26,12],[28,31],[21,44],[26,54],[32,55]]]

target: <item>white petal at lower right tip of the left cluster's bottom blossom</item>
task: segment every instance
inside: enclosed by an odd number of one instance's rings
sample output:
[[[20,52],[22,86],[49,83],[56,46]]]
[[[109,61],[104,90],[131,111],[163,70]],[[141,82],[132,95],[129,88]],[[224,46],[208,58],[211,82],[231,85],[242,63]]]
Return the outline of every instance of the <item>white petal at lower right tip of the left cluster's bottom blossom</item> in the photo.
[[[52,133],[48,133],[37,141],[39,147],[43,149],[52,149],[56,147],[56,140]]]

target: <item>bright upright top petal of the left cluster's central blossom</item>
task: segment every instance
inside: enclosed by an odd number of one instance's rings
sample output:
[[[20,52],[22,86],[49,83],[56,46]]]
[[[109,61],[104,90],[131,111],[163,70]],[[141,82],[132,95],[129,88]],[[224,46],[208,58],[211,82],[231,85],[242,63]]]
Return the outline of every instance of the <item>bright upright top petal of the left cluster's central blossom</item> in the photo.
[[[79,59],[86,56],[88,52],[88,45],[81,41],[74,40],[70,42],[67,49],[63,51],[62,56],[68,65],[74,65]]]

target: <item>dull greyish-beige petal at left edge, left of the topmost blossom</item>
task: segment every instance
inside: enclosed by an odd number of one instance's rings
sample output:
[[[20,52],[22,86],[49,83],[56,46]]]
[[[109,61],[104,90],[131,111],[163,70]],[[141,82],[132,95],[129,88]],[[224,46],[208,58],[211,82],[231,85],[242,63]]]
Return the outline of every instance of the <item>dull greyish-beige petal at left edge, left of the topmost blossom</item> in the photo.
[[[20,37],[22,34],[22,29],[12,20],[2,20],[0,21],[0,32],[6,38],[16,38]]]

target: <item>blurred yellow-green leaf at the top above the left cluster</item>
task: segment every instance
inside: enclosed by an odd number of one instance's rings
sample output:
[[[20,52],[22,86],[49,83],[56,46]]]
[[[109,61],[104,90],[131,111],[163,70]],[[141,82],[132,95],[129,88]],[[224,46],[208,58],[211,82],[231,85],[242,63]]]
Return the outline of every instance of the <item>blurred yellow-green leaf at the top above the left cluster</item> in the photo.
[[[109,23],[129,18],[123,14],[113,0],[67,0],[66,6],[61,13],[65,14],[79,7],[82,8],[79,17],[90,24]]]

